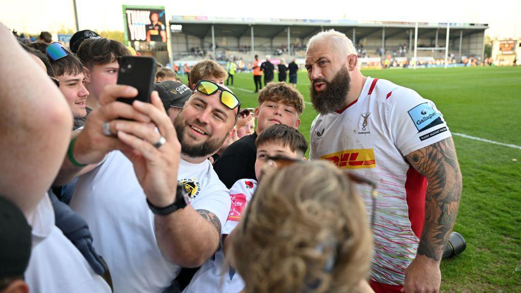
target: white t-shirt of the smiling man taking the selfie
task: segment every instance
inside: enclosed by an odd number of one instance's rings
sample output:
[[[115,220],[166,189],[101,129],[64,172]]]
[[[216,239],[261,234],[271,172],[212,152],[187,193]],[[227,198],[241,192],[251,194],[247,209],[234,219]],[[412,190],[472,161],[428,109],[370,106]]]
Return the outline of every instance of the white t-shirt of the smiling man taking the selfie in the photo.
[[[228,189],[208,160],[191,164],[181,159],[177,180],[184,183],[195,210],[210,211],[225,223]],[[157,246],[154,214],[132,162],[121,152],[109,153],[103,164],[80,177],[71,207],[89,224],[115,292],[160,292],[179,274],[180,267],[165,259]]]

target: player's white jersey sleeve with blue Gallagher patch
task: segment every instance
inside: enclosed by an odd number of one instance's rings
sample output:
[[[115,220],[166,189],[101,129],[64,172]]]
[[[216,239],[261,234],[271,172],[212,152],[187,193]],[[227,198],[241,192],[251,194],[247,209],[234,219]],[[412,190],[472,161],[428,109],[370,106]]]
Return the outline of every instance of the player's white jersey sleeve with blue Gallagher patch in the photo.
[[[432,101],[406,88],[393,94],[387,122],[402,155],[451,137],[443,115]]]

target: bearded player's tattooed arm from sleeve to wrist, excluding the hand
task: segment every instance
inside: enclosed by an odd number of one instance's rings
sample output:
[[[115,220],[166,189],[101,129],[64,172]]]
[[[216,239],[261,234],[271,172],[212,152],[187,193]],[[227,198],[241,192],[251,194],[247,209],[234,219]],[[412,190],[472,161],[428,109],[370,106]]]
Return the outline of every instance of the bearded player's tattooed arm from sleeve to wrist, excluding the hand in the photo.
[[[414,151],[406,158],[429,182],[425,222],[417,253],[438,261],[460,205],[462,178],[454,142],[452,138],[446,138]]]

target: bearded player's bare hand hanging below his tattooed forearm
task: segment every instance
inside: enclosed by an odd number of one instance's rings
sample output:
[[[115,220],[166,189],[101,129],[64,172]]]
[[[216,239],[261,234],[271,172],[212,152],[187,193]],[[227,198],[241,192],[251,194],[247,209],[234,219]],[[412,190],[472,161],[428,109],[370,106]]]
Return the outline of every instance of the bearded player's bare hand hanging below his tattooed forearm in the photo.
[[[417,255],[405,270],[402,292],[437,293],[440,290],[440,261]]]

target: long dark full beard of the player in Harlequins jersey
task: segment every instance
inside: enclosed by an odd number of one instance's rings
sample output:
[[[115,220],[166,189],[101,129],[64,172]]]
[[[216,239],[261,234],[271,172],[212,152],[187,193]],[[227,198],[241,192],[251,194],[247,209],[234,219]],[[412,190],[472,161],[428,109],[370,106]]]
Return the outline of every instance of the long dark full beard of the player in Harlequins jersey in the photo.
[[[320,92],[315,90],[316,82],[325,82],[326,88]],[[315,110],[326,115],[340,109],[351,89],[351,76],[347,68],[342,68],[337,72],[331,81],[325,78],[315,79],[309,86],[311,93],[311,103]]]

